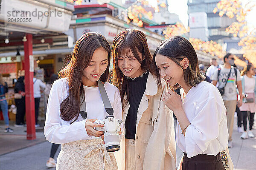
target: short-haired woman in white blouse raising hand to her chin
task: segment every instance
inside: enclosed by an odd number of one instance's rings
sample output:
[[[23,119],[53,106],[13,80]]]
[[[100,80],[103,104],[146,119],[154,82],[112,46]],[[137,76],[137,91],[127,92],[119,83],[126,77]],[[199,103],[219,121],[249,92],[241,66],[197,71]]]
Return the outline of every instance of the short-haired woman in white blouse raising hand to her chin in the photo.
[[[176,143],[184,153],[180,169],[225,170],[220,152],[228,142],[226,108],[218,89],[204,81],[193,46],[172,37],[157,47],[153,62],[158,78],[181,86],[181,97],[168,90],[162,99],[178,120]]]

